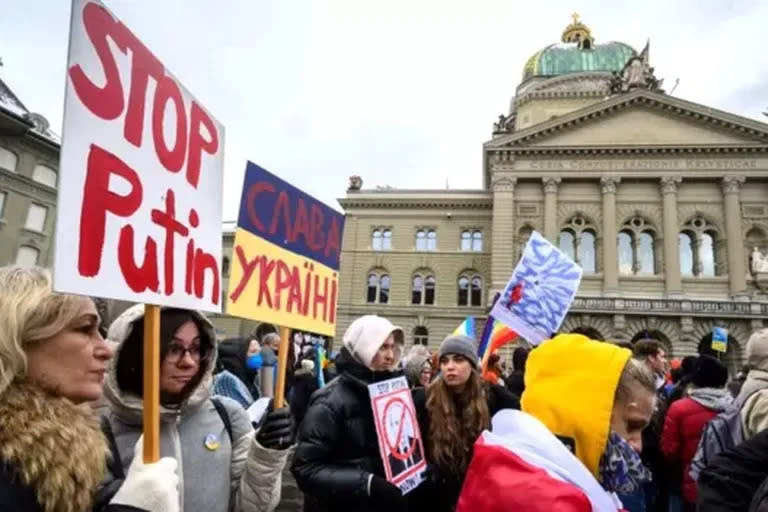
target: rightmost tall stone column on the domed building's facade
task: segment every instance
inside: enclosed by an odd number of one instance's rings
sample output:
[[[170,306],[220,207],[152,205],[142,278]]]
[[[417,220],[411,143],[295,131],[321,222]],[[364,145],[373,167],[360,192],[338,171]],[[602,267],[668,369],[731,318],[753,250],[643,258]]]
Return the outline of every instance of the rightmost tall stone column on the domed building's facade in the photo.
[[[728,281],[731,295],[743,295],[747,291],[747,265],[741,232],[741,200],[739,192],[744,176],[723,178],[725,200],[725,236],[728,247]]]

